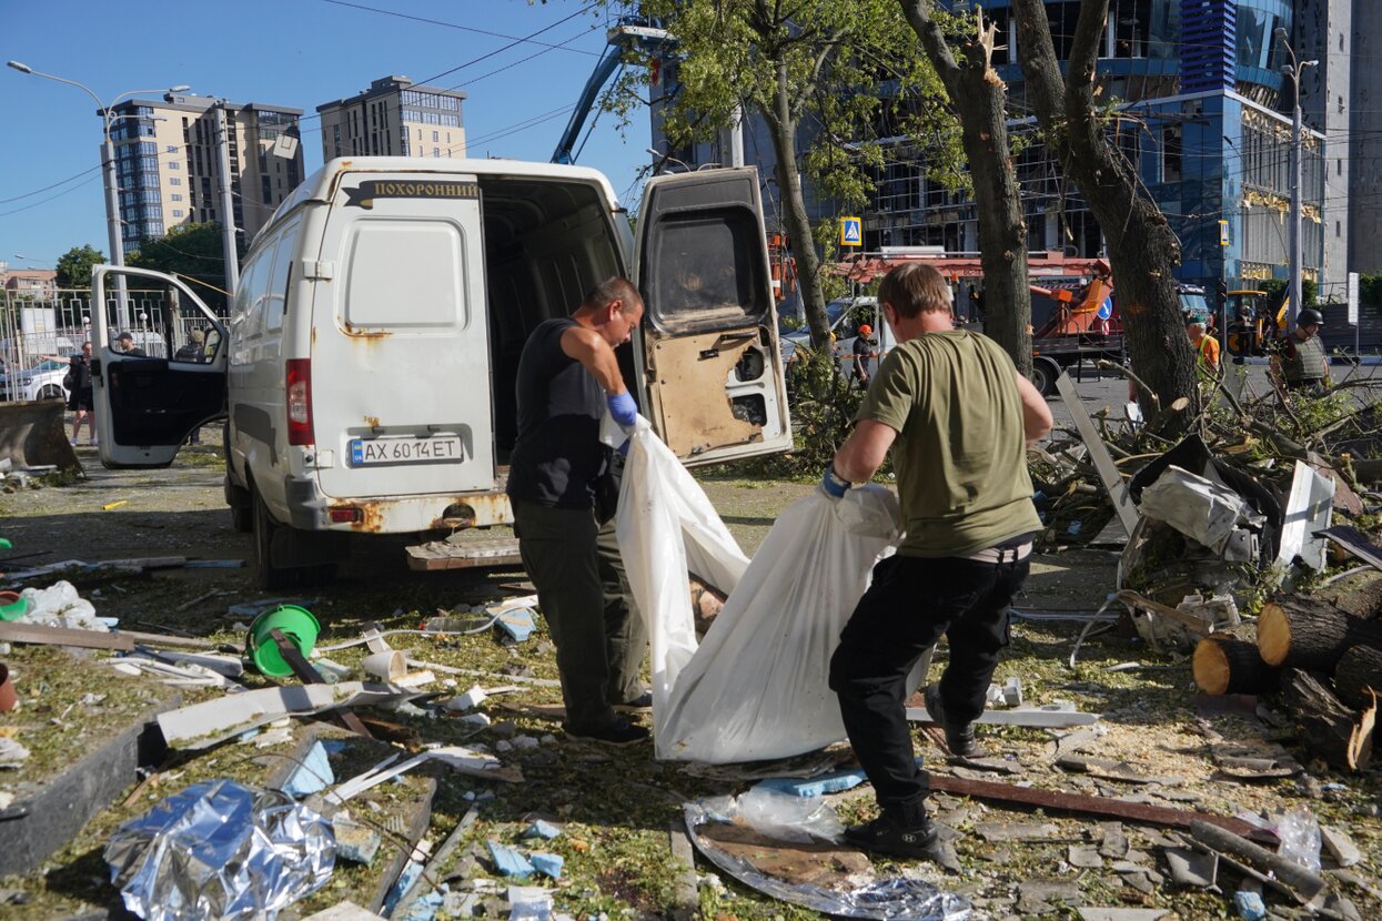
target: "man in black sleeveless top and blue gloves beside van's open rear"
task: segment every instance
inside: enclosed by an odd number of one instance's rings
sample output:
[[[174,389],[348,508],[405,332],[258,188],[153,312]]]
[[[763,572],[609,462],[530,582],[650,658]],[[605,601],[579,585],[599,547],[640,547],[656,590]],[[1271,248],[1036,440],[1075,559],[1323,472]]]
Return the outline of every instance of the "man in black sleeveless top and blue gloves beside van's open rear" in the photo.
[[[518,359],[518,442],[509,458],[518,552],[557,645],[564,729],[615,746],[648,737],[616,710],[651,710],[652,699],[638,681],[647,628],[623,577],[618,486],[600,421],[607,409],[626,428],[637,418],[614,349],[641,319],[638,290],[612,278],[568,319],[538,324]]]

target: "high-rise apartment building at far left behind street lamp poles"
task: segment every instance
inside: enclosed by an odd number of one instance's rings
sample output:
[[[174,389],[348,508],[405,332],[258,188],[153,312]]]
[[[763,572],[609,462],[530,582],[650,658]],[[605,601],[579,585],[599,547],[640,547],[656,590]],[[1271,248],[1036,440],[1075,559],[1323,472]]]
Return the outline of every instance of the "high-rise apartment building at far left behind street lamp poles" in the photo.
[[[115,106],[116,185],[124,249],[171,228],[234,222],[240,250],[303,180],[301,109],[169,93]],[[217,116],[224,113],[232,214],[223,214]]]

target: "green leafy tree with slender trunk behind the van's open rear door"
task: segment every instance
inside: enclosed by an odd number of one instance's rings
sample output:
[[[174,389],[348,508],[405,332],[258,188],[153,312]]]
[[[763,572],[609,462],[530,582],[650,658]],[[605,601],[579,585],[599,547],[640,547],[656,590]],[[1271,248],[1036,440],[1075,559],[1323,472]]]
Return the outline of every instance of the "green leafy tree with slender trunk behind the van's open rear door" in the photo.
[[[915,36],[893,0],[645,0],[638,8],[676,41],[674,95],[662,108],[673,146],[710,139],[741,110],[767,124],[811,342],[826,348],[820,228],[810,224],[803,174],[840,213],[869,200],[868,170],[884,163],[880,128],[911,126],[931,110],[916,98],[940,94]],[[630,91],[648,83],[647,69],[626,70],[605,108],[627,117]]]

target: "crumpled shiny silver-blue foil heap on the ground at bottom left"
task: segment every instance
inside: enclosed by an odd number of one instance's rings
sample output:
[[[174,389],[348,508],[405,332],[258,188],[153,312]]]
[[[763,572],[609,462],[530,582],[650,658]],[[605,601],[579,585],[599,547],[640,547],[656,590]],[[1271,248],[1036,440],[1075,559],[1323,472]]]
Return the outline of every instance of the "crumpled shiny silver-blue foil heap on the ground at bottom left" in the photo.
[[[105,862],[146,921],[272,921],[330,880],[336,835],[285,793],[206,780],[116,828]]]

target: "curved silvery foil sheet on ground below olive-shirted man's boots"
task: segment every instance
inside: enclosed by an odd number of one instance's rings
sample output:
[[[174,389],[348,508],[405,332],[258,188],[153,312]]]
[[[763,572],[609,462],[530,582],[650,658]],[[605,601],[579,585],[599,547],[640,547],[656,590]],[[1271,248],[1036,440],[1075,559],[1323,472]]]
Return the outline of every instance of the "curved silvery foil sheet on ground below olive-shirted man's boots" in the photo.
[[[817,805],[831,811],[828,805]],[[951,892],[941,892],[922,880],[873,878],[849,891],[835,891],[821,885],[789,882],[767,875],[748,860],[728,853],[701,834],[712,823],[742,820],[735,799],[688,802],[683,806],[683,812],[692,844],[710,863],[739,882],[774,899],[842,918],[965,921],[970,917],[972,909],[967,899]],[[837,824],[839,819],[835,822]]]

